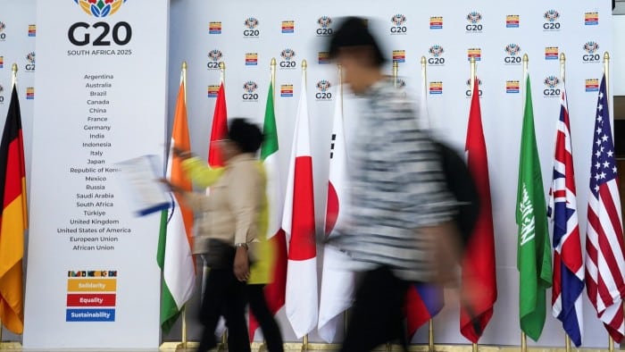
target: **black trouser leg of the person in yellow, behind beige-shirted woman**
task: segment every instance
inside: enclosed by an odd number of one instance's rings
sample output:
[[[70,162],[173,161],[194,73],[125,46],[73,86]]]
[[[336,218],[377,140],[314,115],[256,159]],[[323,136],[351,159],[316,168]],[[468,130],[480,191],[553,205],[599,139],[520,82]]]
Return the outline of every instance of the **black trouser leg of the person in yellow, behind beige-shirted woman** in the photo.
[[[283,352],[284,343],[282,342],[282,333],[267,306],[263,288],[264,285],[262,284],[247,285],[247,298],[249,300],[250,310],[261,326],[262,336],[267,342],[267,349],[269,349],[270,352]]]

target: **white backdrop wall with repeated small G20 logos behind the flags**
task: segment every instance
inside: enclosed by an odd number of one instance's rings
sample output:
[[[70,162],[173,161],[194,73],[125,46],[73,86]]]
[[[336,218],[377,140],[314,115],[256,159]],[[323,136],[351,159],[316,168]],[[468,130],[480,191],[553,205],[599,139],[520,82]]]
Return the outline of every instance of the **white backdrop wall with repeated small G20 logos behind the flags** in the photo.
[[[286,153],[283,168],[286,171],[286,157],[290,151],[296,102],[300,91],[300,63],[306,59],[308,67],[308,100],[312,116],[312,157],[315,177],[315,211],[318,217],[318,231],[321,231],[325,206],[325,190],[328,177],[329,133],[332,122],[332,100],[315,96],[321,90],[315,85],[328,80],[331,94],[337,94],[336,66],[320,64],[319,52],[326,44],[318,20],[328,16],[336,26],[339,16],[361,15],[370,19],[371,28],[385,45],[385,54],[390,57],[394,51],[404,55],[399,63],[399,76],[405,82],[409,94],[421,94],[420,59],[425,55],[431,60],[428,65],[428,81],[442,82],[442,94],[429,94],[429,113],[437,134],[462,148],[470,99],[466,94],[469,79],[469,49],[479,48],[478,76],[482,84],[482,121],[487,141],[490,165],[491,192],[493,197],[496,230],[496,263],[499,299],[495,315],[487,326],[481,342],[487,344],[516,345],[520,339],[518,328],[518,272],[515,266],[516,233],[514,209],[519,144],[521,131],[521,93],[506,93],[506,84],[522,83],[519,57],[529,54],[529,72],[532,79],[537,140],[543,169],[544,185],[548,190],[551,175],[554,146],[554,128],[559,113],[559,89],[544,82],[550,76],[559,77],[558,60],[547,60],[546,52],[565,53],[567,61],[567,88],[570,96],[571,135],[575,151],[576,178],[578,182],[579,218],[582,230],[586,216],[587,181],[592,143],[593,115],[596,108],[596,91],[593,80],[600,80],[604,51],[612,49],[612,15],[608,1],[553,1],[549,4],[537,0],[523,3],[493,3],[479,0],[472,2],[420,3],[396,1],[393,4],[344,0],[332,2],[299,2],[286,4],[277,0],[209,3],[200,0],[173,1],[171,12],[171,72],[173,80],[178,74],[175,69],[186,60],[189,65],[187,106],[191,124],[193,148],[205,155],[212,120],[214,97],[207,96],[207,88],[220,80],[217,61],[226,63],[226,96],[229,116],[246,116],[255,122],[262,122],[264,102],[270,80],[271,57],[278,60],[276,82],[276,112],[280,149]],[[287,10],[288,6],[288,10]],[[551,11],[554,21],[546,19]],[[467,16],[479,16],[471,23]],[[555,14],[557,13],[557,15]],[[404,20],[394,25],[392,18]],[[591,19],[598,16],[598,23]],[[442,29],[430,29],[432,17],[442,17]],[[588,20],[586,20],[588,18]],[[246,20],[255,27],[246,26]],[[518,20],[518,28],[506,26]],[[293,30],[288,30],[293,27]],[[211,30],[212,29],[212,30]],[[477,29],[477,30],[469,30]],[[246,31],[247,30],[247,31]],[[399,31],[399,33],[394,33]],[[319,34],[321,33],[321,35]],[[599,60],[588,61],[584,46],[597,43]],[[513,51],[520,47],[518,53]],[[429,54],[442,47],[437,57]],[[546,49],[550,47],[552,49]],[[557,48],[555,48],[557,47]],[[291,60],[281,57],[283,51],[295,52]],[[403,51],[403,52],[402,52]],[[216,58],[216,59],[213,59]],[[257,64],[249,64],[257,58]],[[586,60],[585,60],[586,58]],[[596,59],[593,56],[592,59]],[[246,59],[247,63],[246,64]],[[291,68],[296,61],[295,68]],[[444,61],[444,63],[443,63]],[[516,63],[509,63],[509,62]],[[289,67],[281,67],[289,66]],[[390,74],[390,63],[387,72]],[[588,80],[588,81],[587,81]],[[509,82],[512,81],[512,82]],[[553,80],[552,80],[553,81]],[[258,98],[244,99],[244,83],[255,83],[254,94]],[[588,83],[588,88],[587,88]],[[250,83],[251,84],[251,83]],[[282,85],[293,85],[293,96],[280,96]],[[435,83],[433,86],[436,86]],[[522,88],[522,84],[521,84]],[[546,90],[547,89],[547,90]],[[171,89],[172,91],[172,89]],[[170,102],[174,96],[171,94]],[[357,123],[357,99],[346,96],[346,129]],[[171,106],[170,106],[171,111]],[[313,280],[313,279],[312,279]],[[449,303],[435,319],[435,337],[439,343],[465,343],[458,332],[457,306]],[[591,306],[585,306],[584,346],[605,347],[607,334],[597,321]],[[287,340],[295,340],[282,317],[281,323]],[[426,329],[421,329],[414,341],[427,340]],[[560,323],[548,316],[541,346],[562,346],[563,333]],[[315,333],[312,341],[320,340]],[[533,343],[533,342],[531,342]]]

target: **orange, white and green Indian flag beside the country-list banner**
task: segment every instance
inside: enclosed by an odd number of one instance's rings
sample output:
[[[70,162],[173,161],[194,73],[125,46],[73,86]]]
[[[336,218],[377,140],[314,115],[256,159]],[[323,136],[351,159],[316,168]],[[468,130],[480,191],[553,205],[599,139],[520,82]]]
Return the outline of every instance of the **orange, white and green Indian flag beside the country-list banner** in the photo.
[[[185,81],[180,77],[180,88],[173,130],[171,130],[171,147],[189,150],[187,125],[187,105],[185,102]],[[172,158],[170,150],[167,160],[167,179],[181,189],[191,190],[179,158]],[[158,240],[156,260],[162,270],[161,293],[161,327],[170,331],[176,322],[182,307],[193,294],[196,281],[196,265],[193,260],[191,246],[193,240],[193,211],[182,205],[175,195],[171,195],[171,208],[161,216],[161,233]]]

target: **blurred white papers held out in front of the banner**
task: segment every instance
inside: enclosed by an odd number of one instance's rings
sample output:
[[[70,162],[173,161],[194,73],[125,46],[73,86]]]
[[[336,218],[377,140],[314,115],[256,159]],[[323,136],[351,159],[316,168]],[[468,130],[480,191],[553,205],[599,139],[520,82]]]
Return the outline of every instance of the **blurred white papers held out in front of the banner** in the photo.
[[[135,214],[144,216],[170,207],[170,192],[162,183],[158,156],[142,155],[116,165],[120,169],[121,187]]]

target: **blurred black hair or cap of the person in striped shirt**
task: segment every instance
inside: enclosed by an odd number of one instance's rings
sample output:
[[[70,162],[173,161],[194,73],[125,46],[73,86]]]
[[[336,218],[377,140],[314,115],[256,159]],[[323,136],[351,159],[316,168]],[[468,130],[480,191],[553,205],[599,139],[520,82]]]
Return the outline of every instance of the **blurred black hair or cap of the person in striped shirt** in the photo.
[[[378,41],[369,30],[368,21],[363,18],[347,17],[338,25],[329,40],[330,59],[336,59],[340,49],[346,47],[368,51],[373,66],[380,67],[387,61]]]

